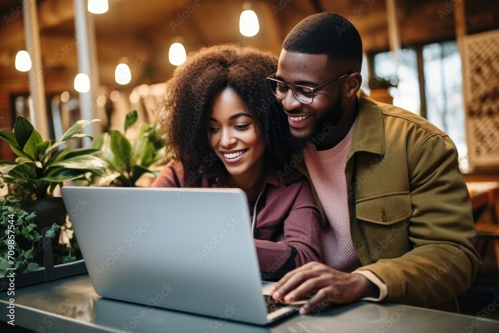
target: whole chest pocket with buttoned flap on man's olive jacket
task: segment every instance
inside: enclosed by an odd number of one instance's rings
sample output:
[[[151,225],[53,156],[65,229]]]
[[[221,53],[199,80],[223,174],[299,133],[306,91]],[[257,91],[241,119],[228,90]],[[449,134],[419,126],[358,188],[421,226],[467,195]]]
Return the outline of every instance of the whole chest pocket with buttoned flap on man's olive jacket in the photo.
[[[408,227],[412,206],[409,192],[359,199],[355,206],[372,260],[398,258],[410,251]]]

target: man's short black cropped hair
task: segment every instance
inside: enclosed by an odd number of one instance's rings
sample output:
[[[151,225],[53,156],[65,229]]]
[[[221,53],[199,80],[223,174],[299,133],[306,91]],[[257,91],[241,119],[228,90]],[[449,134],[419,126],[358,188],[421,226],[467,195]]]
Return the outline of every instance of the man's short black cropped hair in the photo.
[[[296,24],[282,48],[286,51],[327,54],[328,61],[352,60],[360,71],[362,39],[359,31],[345,17],[335,12],[313,14]]]

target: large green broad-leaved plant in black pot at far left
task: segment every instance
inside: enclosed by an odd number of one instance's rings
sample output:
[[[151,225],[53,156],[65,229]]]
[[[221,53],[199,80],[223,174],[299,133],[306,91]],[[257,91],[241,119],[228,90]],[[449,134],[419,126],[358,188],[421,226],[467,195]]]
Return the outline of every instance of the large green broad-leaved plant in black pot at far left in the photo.
[[[98,119],[77,121],[55,142],[42,140],[31,123],[22,116],[15,120],[13,133],[0,129],[0,139],[7,142],[17,156],[15,161],[0,160],[0,186],[7,184],[7,196],[18,199],[19,208],[36,213],[33,224],[38,232],[52,226],[54,222],[62,225],[66,221],[62,198],[53,197],[57,185],[84,178],[87,173],[106,172],[106,163],[91,155],[98,149],[71,150],[68,144],[58,150],[69,139],[89,136],[79,132],[94,121]]]

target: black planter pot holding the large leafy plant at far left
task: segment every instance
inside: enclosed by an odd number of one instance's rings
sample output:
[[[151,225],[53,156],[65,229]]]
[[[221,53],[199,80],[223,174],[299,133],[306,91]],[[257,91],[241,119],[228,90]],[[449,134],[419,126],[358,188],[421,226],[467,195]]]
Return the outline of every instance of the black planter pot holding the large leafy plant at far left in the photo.
[[[60,197],[22,202],[19,203],[19,208],[28,213],[34,212],[36,214],[33,223],[38,227],[37,231],[40,234],[44,228],[50,228],[54,223],[61,226],[66,221],[66,206],[64,206],[64,202]],[[52,248],[55,248],[59,244],[59,235],[60,230],[52,238]],[[18,240],[18,245],[23,250],[31,248],[31,243],[24,239]],[[40,266],[43,266],[42,247],[43,244],[39,241],[35,243],[33,249],[33,260]]]

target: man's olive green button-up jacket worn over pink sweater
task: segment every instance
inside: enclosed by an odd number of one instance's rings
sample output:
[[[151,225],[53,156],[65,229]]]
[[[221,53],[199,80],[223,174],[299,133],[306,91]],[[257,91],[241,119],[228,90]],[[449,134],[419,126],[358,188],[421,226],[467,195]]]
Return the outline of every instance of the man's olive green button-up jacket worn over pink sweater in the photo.
[[[359,270],[387,285],[385,301],[458,311],[482,261],[456,147],[424,118],[357,97],[345,175]]]

